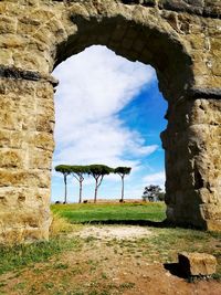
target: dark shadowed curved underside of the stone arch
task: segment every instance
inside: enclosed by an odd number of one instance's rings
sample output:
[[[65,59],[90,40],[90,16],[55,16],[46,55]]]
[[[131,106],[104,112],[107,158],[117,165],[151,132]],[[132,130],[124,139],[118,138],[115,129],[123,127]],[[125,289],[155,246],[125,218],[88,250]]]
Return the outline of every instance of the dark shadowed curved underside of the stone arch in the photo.
[[[127,19],[124,14],[98,19],[94,17],[92,20],[71,15],[71,19],[77,25],[77,33],[57,45],[55,66],[85,48],[99,44],[129,61],[152,65],[165,94],[169,93],[169,88],[172,92],[175,87],[173,96],[179,97],[179,88],[183,89],[183,85],[191,84],[191,56],[185,52],[178,35],[177,39],[171,38],[168,31],[162,31],[158,25],[151,28],[149,23],[145,24],[136,18]]]

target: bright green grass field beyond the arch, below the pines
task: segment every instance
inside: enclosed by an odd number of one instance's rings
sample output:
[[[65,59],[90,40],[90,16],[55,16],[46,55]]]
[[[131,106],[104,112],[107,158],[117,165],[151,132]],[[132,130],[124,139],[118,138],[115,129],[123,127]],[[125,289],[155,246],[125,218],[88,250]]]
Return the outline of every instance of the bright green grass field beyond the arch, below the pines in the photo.
[[[71,223],[90,221],[150,220],[162,221],[166,218],[165,203],[86,203],[53,204],[52,212]]]

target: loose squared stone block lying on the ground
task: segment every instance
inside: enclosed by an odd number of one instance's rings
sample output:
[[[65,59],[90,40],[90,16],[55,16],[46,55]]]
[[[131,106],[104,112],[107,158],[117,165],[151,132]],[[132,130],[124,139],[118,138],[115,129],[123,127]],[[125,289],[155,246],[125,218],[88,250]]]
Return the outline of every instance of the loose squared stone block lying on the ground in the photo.
[[[209,276],[215,273],[217,259],[207,253],[187,253],[178,254],[179,266],[186,276]]]

